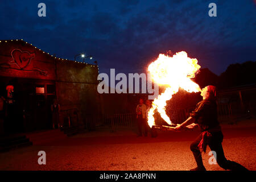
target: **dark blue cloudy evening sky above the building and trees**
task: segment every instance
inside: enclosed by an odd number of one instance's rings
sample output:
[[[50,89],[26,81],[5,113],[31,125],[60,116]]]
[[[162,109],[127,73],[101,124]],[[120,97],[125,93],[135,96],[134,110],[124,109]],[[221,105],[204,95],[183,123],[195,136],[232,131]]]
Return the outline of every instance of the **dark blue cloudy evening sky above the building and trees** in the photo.
[[[47,16],[38,16],[38,3]],[[217,17],[208,5],[217,5]],[[93,55],[100,72],[144,72],[159,53],[186,51],[201,67],[224,72],[255,61],[256,6],[241,1],[0,1],[0,39],[23,39],[57,57]],[[88,60],[93,63],[94,60]]]

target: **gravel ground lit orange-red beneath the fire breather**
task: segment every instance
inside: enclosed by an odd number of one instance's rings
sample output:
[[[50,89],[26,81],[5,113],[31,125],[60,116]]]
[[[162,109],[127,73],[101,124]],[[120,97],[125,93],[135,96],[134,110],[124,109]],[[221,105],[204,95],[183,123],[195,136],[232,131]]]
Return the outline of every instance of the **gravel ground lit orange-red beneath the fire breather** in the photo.
[[[223,130],[226,158],[256,169],[256,127]],[[196,167],[189,145],[198,131],[159,131],[158,137],[139,137],[133,131],[95,131],[45,146],[30,146],[0,153],[0,170],[189,170]],[[46,151],[46,165],[38,164],[38,151]],[[208,163],[208,170],[223,170]]]

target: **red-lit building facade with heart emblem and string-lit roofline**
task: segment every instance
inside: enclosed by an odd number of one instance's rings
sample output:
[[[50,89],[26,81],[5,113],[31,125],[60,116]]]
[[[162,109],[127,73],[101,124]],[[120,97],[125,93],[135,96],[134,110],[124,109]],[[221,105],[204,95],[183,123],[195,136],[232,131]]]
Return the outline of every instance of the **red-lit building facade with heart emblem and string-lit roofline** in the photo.
[[[0,96],[5,105],[0,127],[51,129],[54,99],[60,104],[60,125],[85,127],[86,117],[101,113],[97,76],[98,65],[55,57],[23,40],[1,40]]]

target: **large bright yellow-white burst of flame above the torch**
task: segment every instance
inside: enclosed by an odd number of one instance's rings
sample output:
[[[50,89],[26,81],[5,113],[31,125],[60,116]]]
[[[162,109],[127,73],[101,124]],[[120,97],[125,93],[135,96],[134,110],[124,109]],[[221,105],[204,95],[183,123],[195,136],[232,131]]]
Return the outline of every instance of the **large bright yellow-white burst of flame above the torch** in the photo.
[[[148,66],[152,80],[158,85],[164,85],[166,90],[152,102],[148,111],[148,125],[155,125],[155,110],[169,125],[172,122],[166,114],[166,101],[179,91],[179,88],[187,92],[201,92],[199,85],[191,80],[200,69],[197,59],[191,59],[185,51],[177,52],[174,56],[159,54],[158,59]]]

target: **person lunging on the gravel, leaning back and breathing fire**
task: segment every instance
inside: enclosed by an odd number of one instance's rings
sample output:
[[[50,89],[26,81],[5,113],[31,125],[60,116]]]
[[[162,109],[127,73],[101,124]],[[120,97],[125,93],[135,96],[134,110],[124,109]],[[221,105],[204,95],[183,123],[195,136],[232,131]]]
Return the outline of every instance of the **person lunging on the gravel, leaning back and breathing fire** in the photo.
[[[192,111],[190,117],[175,127],[176,131],[195,126],[199,126],[201,129],[202,133],[190,146],[197,164],[197,167],[191,171],[206,171],[200,149],[205,152],[207,145],[209,145],[210,150],[216,152],[216,160],[220,167],[230,170],[247,170],[241,164],[225,158],[221,144],[223,135],[217,120],[216,87],[206,86],[202,90],[201,96],[203,96],[203,100],[196,105],[196,109]]]

